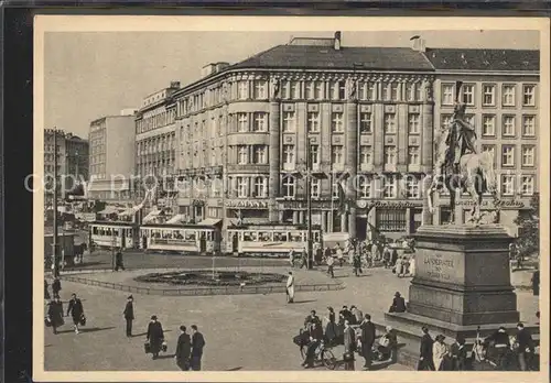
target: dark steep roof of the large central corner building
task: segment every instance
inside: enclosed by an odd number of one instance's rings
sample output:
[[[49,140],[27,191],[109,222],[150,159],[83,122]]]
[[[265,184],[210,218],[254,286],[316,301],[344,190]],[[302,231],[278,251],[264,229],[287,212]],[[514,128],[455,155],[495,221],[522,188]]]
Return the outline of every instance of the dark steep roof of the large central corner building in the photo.
[[[409,47],[277,45],[230,66],[237,68],[433,70],[422,53]]]

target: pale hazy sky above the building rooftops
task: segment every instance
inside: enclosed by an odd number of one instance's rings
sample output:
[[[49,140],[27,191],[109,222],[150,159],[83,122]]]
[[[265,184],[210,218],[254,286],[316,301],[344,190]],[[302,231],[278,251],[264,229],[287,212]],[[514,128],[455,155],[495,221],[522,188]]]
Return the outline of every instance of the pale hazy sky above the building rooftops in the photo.
[[[87,139],[89,123],[139,108],[142,99],[173,80],[185,86],[212,62],[244,61],[294,36],[332,37],[334,32],[46,32],[44,128]],[[343,46],[538,50],[537,31],[343,32]]]

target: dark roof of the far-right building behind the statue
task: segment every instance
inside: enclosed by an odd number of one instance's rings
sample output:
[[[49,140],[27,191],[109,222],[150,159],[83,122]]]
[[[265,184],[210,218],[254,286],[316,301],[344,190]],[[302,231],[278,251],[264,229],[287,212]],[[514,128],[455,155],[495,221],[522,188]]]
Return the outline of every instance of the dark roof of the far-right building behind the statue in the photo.
[[[540,70],[540,52],[527,50],[428,48],[436,70]]]

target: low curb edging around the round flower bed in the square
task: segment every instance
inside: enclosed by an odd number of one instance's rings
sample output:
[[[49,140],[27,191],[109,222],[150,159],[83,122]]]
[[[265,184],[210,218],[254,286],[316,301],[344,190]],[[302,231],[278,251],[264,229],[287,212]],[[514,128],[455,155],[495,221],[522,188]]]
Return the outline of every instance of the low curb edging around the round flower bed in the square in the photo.
[[[225,269],[225,267],[220,267]],[[233,269],[233,267],[228,267]],[[159,271],[160,269],[151,269]],[[182,269],[162,269],[165,271],[174,271]],[[109,270],[110,271],[110,270]],[[147,271],[147,270],[144,270]],[[185,270],[182,270],[185,271]],[[91,273],[89,273],[91,274]],[[80,283],[89,286],[105,287],[120,292],[128,292],[144,295],[161,295],[161,296],[214,296],[214,295],[251,295],[251,294],[282,294],[285,293],[285,286],[224,286],[224,287],[197,287],[197,288],[153,288],[153,287],[138,287],[123,285],[119,283],[95,281],[79,276],[62,275],[62,278],[68,282]],[[307,285],[296,285],[296,292],[331,292],[344,289],[346,285],[344,282],[338,283],[318,283]]]

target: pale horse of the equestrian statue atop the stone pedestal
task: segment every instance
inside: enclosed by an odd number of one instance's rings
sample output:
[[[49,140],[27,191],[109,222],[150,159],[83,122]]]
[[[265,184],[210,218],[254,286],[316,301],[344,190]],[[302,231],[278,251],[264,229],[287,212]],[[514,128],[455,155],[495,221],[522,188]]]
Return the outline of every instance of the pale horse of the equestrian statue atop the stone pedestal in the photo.
[[[450,149],[445,144],[445,134],[441,134],[440,141],[436,144],[437,157],[445,157]],[[450,162],[445,164],[436,164],[434,176],[428,192],[429,211],[434,212],[433,195],[435,192],[441,192],[445,187],[450,192],[450,223],[456,222],[455,201],[457,198],[456,190],[468,193],[473,200],[473,209],[468,222],[476,226],[480,225],[484,216],[480,212],[483,196],[489,193],[494,198],[495,217],[494,222],[498,219],[499,199],[497,197],[497,180],[494,173],[494,156],[490,152],[483,153],[465,153],[460,158],[458,169],[453,168]]]

